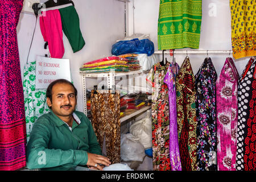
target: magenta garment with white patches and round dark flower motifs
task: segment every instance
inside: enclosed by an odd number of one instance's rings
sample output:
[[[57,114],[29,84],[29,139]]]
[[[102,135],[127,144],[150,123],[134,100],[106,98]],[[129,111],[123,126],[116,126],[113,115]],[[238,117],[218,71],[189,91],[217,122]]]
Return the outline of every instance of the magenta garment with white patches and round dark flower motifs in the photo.
[[[236,170],[238,72],[228,57],[216,82],[218,171]]]

